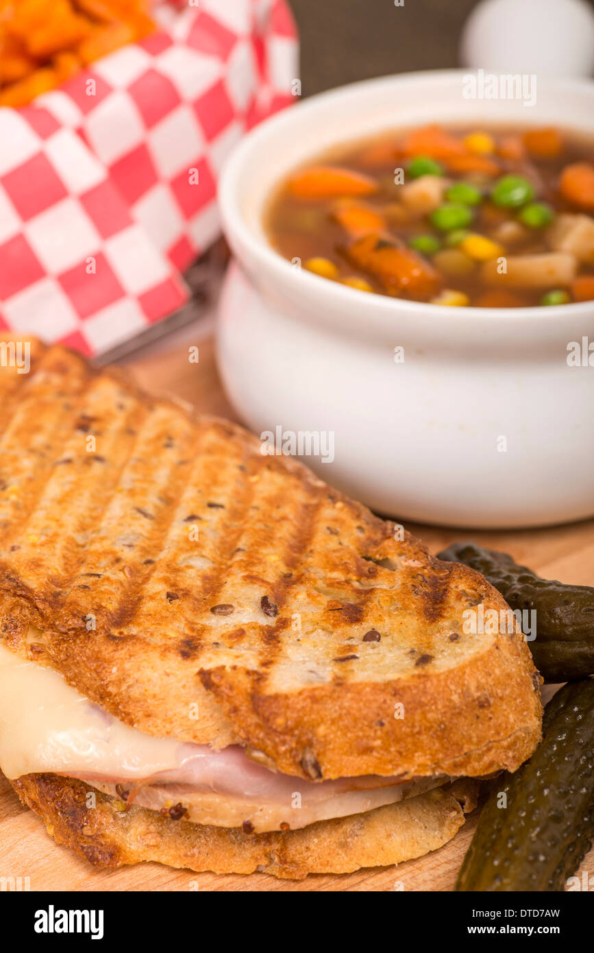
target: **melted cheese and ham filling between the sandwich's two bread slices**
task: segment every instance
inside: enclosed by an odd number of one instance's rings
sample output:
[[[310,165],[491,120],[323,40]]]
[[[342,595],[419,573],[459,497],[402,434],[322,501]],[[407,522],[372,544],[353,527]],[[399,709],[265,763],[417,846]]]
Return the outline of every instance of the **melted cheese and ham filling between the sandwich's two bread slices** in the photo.
[[[239,745],[214,751],[153,738],[113,718],[56,672],[3,646],[0,688],[0,766],[8,778],[34,772],[79,778],[189,821],[294,829],[400,801],[446,781],[304,781],[250,760]]]

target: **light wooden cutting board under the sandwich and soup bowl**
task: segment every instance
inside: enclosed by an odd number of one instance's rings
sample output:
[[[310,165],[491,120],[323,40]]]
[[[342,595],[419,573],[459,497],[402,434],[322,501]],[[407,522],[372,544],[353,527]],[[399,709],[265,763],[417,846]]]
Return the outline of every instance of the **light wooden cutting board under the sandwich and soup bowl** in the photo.
[[[198,344],[199,362],[189,363],[188,347]],[[174,346],[126,362],[147,390],[174,393],[200,410],[236,417],[228,406],[216,372],[211,339],[195,330],[177,335]],[[433,553],[468,531],[406,524]],[[520,562],[548,578],[594,584],[594,520],[545,530],[475,533],[471,537],[494,549],[511,552]],[[451,890],[476,825],[466,821],[453,841],[418,861],[398,867],[363,870],[344,876],[313,876],[301,882],[279,881],[265,874],[249,876],[195,874],[158,863],[116,871],[96,870],[46,834],[42,821],[24,808],[0,774],[0,877],[29,877],[31,890]],[[594,875],[594,850],[581,870]]]

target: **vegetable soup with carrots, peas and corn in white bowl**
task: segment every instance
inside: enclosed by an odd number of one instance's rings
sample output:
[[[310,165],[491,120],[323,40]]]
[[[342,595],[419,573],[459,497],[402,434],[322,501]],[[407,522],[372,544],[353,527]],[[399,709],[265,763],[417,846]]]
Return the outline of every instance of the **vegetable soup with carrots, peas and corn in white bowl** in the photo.
[[[514,308],[594,300],[594,144],[553,128],[390,132],[293,172],[277,252],[366,292]]]

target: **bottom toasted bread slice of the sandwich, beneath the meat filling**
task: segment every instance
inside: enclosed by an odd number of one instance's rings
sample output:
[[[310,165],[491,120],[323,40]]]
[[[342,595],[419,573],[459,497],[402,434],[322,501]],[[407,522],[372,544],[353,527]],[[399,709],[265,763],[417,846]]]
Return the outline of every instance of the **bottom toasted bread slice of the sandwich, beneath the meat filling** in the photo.
[[[263,871],[302,880],[422,857],[450,841],[476,806],[478,783],[456,781],[399,804],[296,831],[245,834],[239,828],[170,821],[142,807],[118,812],[83,781],[32,774],[10,782],[49,834],[99,867],[156,861],[217,874]],[[89,808],[93,792],[96,806]]]

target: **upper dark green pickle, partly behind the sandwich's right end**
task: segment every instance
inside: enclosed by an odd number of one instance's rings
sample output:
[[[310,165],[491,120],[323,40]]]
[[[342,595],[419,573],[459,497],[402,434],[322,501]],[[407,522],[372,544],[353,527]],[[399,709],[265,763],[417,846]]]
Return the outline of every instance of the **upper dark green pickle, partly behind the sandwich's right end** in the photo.
[[[543,579],[506,553],[454,543],[438,559],[478,570],[511,609],[535,610],[536,639],[527,644],[545,681],[594,673],[594,589]]]

